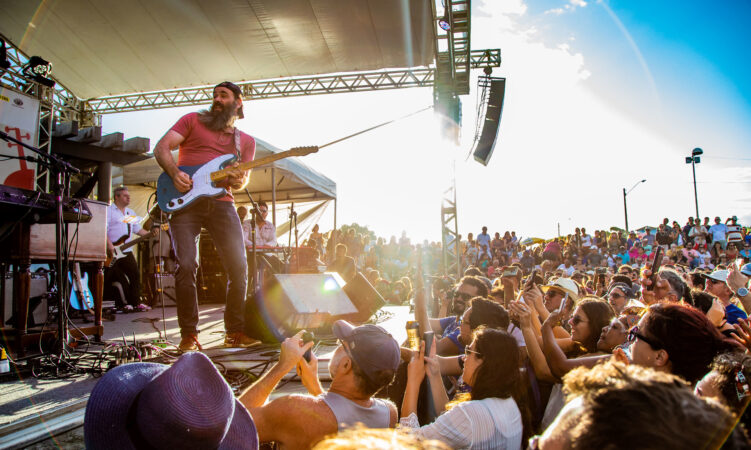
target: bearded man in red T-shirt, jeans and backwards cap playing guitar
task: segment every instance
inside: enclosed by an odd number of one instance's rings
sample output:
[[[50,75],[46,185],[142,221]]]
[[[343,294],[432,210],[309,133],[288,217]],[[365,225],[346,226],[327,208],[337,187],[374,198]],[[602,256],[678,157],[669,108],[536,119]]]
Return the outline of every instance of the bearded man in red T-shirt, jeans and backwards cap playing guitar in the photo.
[[[187,193],[193,187],[190,175],[178,166],[196,166],[212,159],[232,154],[238,158],[227,169],[227,177],[216,182],[227,188],[227,195],[219,198],[203,197],[175,211],[170,219],[177,272],[177,321],[180,326],[180,350],[200,349],[198,343],[198,271],[197,246],[201,228],[206,228],[222,260],[229,283],[224,312],[227,347],[250,347],[259,341],[243,332],[245,295],[248,287],[248,268],[240,218],[234,208],[232,189],[247,183],[250,171],[237,168],[239,162],[253,160],[255,140],[235,128],[235,120],[242,119],[242,91],[228,81],[214,87],[214,101],[209,110],[189,113],[164,135],[154,148],[154,155],[164,172],[172,179],[175,189]],[[179,148],[178,163],[171,150]]]

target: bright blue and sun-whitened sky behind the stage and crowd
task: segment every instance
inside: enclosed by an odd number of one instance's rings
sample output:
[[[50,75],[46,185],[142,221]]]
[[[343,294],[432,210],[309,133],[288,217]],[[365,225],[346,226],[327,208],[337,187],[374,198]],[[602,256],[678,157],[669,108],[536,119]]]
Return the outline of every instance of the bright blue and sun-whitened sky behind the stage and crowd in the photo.
[[[440,240],[455,175],[459,233],[549,238],[695,214],[751,224],[751,2],[475,0],[471,47],[500,48],[507,79],[488,166],[470,152],[476,78],[461,98],[461,145],[430,111],[322,149],[303,162],[337,183],[338,224]],[[323,145],[432,104],[430,89],[258,100],[238,127],[286,149]],[[103,117],[104,132],[151,138],[199,107]],[[282,215],[284,216],[284,215]],[[333,208],[320,218],[333,225]]]

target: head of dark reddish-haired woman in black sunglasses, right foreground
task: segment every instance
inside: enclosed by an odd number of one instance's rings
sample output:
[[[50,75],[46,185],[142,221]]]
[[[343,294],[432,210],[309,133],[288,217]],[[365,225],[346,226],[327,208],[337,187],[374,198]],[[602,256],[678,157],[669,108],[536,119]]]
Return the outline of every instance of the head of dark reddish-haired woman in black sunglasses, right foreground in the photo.
[[[740,348],[701,311],[673,303],[650,306],[628,342],[633,364],[679,375],[692,385],[709,371],[716,355]]]

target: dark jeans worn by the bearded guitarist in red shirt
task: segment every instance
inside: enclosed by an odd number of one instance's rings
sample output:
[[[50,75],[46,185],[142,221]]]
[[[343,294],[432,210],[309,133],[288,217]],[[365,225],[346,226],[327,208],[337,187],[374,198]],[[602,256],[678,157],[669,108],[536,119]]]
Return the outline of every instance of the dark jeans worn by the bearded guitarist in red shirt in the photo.
[[[177,323],[180,334],[198,334],[198,236],[206,228],[227,272],[227,306],[224,326],[228,333],[243,331],[245,295],[248,289],[248,267],[243,245],[242,226],[234,203],[210,198],[196,200],[193,205],[172,215],[172,238],[177,253],[175,293]]]

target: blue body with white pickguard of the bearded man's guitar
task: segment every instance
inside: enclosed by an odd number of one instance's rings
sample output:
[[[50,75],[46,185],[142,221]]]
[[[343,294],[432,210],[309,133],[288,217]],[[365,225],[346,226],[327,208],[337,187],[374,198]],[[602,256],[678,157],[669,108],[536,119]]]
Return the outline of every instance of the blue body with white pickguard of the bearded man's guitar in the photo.
[[[162,173],[156,182],[156,199],[162,211],[171,214],[187,207],[203,197],[223,197],[227,190],[217,187],[211,181],[211,173],[224,169],[235,161],[235,155],[226,154],[217,156],[206,164],[198,166],[180,166],[180,170],[190,175],[193,180],[193,188],[182,194],[172,182],[172,178]]]

